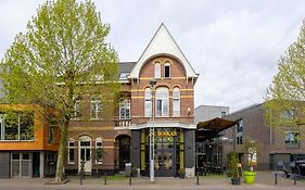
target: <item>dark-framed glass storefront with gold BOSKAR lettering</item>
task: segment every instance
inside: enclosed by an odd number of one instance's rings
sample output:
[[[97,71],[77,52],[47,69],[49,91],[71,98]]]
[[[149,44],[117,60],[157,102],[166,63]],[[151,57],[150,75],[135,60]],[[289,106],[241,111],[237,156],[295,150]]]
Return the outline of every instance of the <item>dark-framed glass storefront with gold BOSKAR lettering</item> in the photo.
[[[149,174],[149,129],[141,131],[141,170]],[[155,176],[176,176],[185,168],[185,134],[178,128],[155,128]]]

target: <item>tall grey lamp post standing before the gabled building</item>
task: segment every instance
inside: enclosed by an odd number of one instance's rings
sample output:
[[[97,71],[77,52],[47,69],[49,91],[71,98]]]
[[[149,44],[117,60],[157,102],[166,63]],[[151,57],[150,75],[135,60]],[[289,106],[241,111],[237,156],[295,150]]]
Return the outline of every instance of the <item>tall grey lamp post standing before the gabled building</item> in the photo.
[[[150,114],[150,181],[154,182],[154,103],[153,103],[153,86],[156,84],[155,79],[151,79],[151,114]]]

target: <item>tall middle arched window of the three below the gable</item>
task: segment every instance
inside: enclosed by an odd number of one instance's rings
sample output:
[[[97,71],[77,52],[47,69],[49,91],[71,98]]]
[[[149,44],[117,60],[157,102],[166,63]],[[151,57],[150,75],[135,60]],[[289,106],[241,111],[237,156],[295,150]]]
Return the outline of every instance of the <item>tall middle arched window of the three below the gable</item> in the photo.
[[[155,90],[155,114],[156,116],[168,116],[169,103],[168,103],[168,88],[158,87]]]

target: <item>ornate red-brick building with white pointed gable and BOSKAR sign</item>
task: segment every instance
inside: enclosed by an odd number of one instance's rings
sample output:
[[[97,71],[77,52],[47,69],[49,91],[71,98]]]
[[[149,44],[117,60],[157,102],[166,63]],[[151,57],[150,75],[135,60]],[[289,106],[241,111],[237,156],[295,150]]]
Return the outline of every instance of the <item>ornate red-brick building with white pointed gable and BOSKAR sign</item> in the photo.
[[[122,98],[114,119],[102,118],[103,103],[92,97],[76,102],[76,110],[87,107],[81,112],[89,119],[76,112],[71,123],[66,173],[76,174],[82,160],[87,173],[114,173],[131,162],[148,175],[149,128],[154,125],[155,175],[175,176],[182,168],[192,176],[198,76],[162,24],[137,62],[119,63]]]

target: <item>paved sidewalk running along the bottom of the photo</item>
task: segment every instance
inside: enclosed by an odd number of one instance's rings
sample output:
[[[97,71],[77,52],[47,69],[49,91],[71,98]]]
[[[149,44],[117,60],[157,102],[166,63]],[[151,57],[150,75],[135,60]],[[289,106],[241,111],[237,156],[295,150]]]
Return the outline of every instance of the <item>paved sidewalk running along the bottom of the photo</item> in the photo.
[[[79,185],[79,179],[77,177],[68,177],[69,182],[66,185],[45,185],[51,179],[0,179],[0,190],[33,190],[33,189],[48,189],[48,190],[58,190],[58,189],[109,189],[109,190],[119,190],[119,189],[144,189],[144,190],[154,190],[154,189],[215,189],[215,190],[304,190],[305,181],[297,181],[294,185],[294,181],[291,179],[285,179],[282,177],[278,178],[278,185],[275,186],[275,178],[272,173],[258,173],[257,180],[254,185],[241,183],[241,186],[232,186],[230,183],[230,178],[226,177],[200,177],[200,185],[196,185],[196,178],[191,179],[179,179],[179,178],[156,178],[155,183],[151,183],[149,178],[140,177],[132,178],[132,185],[129,186],[129,179],[120,180],[107,180],[107,185],[104,185],[103,178],[91,178],[88,177],[84,180],[84,185]]]

